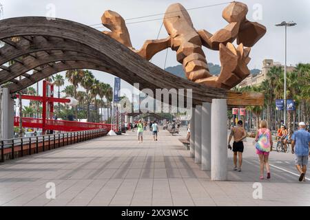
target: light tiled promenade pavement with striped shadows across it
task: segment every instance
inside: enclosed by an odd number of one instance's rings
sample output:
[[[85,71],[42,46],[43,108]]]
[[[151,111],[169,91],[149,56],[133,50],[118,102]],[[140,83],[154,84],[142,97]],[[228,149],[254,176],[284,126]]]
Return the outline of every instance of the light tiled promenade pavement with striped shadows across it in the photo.
[[[211,181],[189,151],[161,130],[158,142],[149,131],[138,144],[136,133],[58,148],[0,164],[0,206],[309,206],[310,181],[300,183],[291,153],[271,153],[271,179],[258,179],[251,140],[242,172],[229,181]],[[223,137],[225,138],[225,137]],[[47,199],[48,182],[56,199]],[[254,199],[253,184],[262,184]]]

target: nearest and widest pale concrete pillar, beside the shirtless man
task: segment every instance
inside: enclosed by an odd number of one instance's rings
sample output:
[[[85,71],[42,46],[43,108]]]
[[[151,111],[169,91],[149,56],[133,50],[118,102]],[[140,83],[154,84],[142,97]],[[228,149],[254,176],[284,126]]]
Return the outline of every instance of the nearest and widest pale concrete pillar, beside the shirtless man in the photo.
[[[213,99],[211,104],[211,179],[227,180],[227,102]]]

